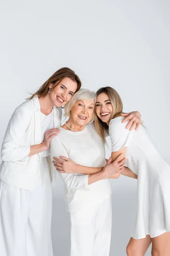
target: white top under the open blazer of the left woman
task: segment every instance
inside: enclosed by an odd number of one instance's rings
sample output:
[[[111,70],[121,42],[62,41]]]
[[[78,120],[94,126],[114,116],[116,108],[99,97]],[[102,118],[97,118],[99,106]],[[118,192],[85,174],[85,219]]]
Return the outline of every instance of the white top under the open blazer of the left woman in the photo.
[[[42,143],[44,141],[45,132],[54,128],[53,110],[47,116],[42,112],[40,112],[40,118],[41,118],[41,143]],[[40,153],[40,157],[47,157],[49,155],[50,155],[50,149],[47,149]]]

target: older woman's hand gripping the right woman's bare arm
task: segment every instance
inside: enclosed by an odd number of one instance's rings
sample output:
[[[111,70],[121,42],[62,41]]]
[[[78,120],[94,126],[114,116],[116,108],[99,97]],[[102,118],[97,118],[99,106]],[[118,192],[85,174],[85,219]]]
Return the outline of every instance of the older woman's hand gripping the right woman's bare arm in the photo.
[[[117,172],[122,172],[124,169],[124,165],[126,162],[126,158],[122,159],[123,154],[119,154],[119,156],[112,162],[111,157],[108,159],[105,167],[102,169],[102,173],[104,175],[104,179],[114,175]]]

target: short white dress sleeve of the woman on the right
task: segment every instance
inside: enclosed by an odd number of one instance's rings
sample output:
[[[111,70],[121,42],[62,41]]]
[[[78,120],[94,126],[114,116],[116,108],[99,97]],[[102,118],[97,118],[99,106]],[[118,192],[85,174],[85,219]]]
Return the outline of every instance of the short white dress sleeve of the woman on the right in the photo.
[[[126,129],[126,123],[122,123],[122,117],[116,117],[109,123],[109,135],[111,138],[112,152],[119,151],[122,148],[128,147],[135,129],[130,131]]]

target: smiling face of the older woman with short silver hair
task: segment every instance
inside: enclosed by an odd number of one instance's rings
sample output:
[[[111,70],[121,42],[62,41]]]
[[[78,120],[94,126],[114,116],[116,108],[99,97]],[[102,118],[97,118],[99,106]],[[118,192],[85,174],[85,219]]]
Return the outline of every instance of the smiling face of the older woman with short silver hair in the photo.
[[[85,126],[91,121],[94,113],[94,100],[82,99],[71,108],[69,120],[76,125]]]

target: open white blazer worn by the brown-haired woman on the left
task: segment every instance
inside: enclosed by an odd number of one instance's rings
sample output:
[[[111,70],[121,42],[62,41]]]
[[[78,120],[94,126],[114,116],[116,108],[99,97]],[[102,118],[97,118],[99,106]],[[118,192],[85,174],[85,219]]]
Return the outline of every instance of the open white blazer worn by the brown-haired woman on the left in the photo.
[[[54,106],[54,128],[61,126],[62,108]],[[41,143],[40,102],[37,96],[16,108],[9,120],[1,148],[0,180],[20,189],[33,190],[40,172],[40,154],[28,157],[30,146]],[[48,157],[47,157],[48,158]],[[48,165],[51,181],[52,171]],[[54,174],[55,175],[55,174]]]

